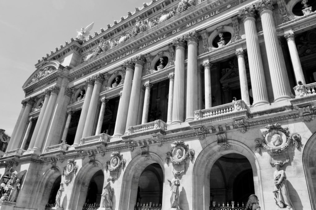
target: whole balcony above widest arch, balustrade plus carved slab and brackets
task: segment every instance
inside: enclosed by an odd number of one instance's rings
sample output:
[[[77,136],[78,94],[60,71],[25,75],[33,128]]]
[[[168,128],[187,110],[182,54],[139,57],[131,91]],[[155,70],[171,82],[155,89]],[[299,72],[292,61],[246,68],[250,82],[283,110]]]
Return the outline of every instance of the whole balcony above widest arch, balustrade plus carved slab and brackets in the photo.
[[[243,121],[248,119],[250,109],[242,100],[234,101],[231,103],[223,104],[208,109],[197,110],[194,112],[195,118],[189,122],[190,127],[197,128],[200,126],[213,128],[218,125],[228,125],[233,123],[238,124],[236,121]],[[212,130],[213,130],[212,129]]]

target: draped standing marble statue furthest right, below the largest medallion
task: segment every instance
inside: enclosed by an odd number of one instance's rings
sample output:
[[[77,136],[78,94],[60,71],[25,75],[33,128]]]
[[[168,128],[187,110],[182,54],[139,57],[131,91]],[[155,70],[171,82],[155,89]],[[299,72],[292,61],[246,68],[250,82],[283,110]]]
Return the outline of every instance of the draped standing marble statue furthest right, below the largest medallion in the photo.
[[[281,170],[281,164],[275,163],[276,170],[274,176],[274,199],[280,208],[293,208],[293,204],[289,197],[289,191],[284,170]]]

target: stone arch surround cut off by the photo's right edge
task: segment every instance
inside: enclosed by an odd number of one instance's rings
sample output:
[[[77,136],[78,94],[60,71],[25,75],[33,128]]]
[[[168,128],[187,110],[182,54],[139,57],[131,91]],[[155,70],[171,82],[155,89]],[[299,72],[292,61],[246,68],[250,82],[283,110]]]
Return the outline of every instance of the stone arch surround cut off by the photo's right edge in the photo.
[[[308,139],[303,150],[303,168],[312,209],[316,209],[316,132]]]

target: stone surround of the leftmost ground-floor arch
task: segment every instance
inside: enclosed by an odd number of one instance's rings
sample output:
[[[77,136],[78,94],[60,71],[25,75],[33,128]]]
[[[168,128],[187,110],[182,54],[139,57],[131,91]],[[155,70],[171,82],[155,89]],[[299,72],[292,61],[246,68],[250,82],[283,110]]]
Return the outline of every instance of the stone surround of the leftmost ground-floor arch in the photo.
[[[58,167],[56,167],[55,169],[56,170],[46,170],[42,179],[40,180],[40,184],[38,185],[38,188],[36,190],[37,193],[35,195],[33,209],[45,209],[45,205],[48,202],[53,184],[58,176],[61,176],[61,170]]]

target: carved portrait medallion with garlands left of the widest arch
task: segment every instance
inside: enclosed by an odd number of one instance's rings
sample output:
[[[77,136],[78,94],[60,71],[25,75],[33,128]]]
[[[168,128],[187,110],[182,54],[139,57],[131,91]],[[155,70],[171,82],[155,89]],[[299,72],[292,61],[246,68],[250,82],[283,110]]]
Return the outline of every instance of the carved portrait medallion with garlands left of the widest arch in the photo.
[[[189,145],[184,144],[184,141],[175,141],[172,143],[171,153],[166,153],[166,162],[171,161],[173,165],[173,175],[180,176],[182,172],[185,171],[185,161],[189,157],[190,160],[193,160],[195,151],[189,149]],[[168,160],[167,160],[168,159]]]

